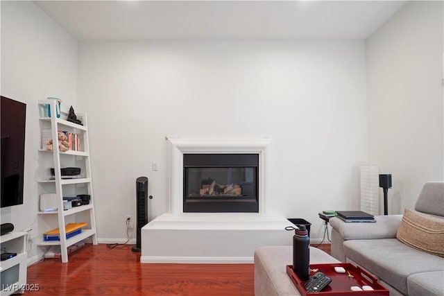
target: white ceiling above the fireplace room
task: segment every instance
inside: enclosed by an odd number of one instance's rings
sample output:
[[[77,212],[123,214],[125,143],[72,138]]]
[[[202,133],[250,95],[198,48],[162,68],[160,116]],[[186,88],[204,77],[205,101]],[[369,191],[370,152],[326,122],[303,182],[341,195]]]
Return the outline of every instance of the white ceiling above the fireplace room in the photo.
[[[76,40],[370,36],[406,1],[35,1]]]

